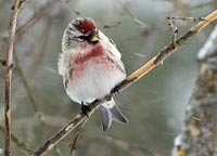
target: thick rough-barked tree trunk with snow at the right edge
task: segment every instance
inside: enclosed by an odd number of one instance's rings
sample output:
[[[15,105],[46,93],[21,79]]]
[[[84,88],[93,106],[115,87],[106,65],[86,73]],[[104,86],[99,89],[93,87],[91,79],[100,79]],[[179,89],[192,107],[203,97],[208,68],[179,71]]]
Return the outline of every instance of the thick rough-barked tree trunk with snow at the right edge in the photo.
[[[199,76],[173,156],[217,155],[217,25],[197,54]]]

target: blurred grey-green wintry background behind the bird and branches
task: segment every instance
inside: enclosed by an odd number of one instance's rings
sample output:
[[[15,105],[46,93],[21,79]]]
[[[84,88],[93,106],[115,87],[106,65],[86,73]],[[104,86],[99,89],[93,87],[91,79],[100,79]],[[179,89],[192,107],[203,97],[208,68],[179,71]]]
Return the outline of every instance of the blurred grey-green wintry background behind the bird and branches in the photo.
[[[0,0],[0,58],[5,58],[10,9]],[[79,113],[66,95],[58,74],[64,28],[77,16],[88,16],[116,43],[131,74],[171,40],[167,16],[203,17],[216,0],[29,0],[18,15],[12,81],[13,155],[26,155]],[[181,36],[193,21],[176,21]],[[95,112],[78,142],[77,156],[168,156],[181,130],[184,109],[196,78],[196,53],[212,25],[133,86],[115,98],[129,123],[113,122],[104,132]],[[0,148],[4,147],[4,67],[0,67]],[[77,129],[79,130],[79,129]],[[69,155],[68,134],[48,156]]]

